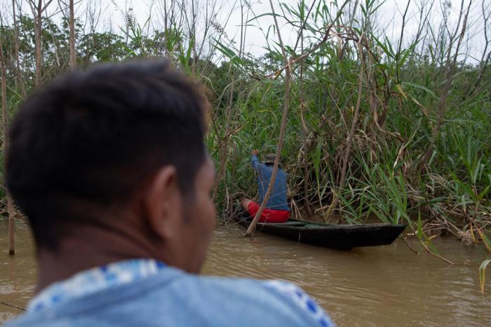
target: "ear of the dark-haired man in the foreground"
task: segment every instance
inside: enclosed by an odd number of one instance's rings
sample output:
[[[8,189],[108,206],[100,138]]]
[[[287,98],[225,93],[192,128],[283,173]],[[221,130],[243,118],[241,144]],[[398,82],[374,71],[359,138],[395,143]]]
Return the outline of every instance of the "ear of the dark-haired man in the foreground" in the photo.
[[[149,182],[144,208],[149,227],[161,239],[172,238],[180,223],[181,192],[174,166],[161,168]]]

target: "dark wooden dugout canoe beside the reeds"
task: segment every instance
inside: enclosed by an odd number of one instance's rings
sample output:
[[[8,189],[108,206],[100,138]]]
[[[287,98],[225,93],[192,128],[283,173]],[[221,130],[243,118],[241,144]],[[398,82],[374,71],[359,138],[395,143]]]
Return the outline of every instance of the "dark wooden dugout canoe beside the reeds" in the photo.
[[[237,217],[239,225],[248,227],[250,218]],[[326,225],[289,219],[283,223],[258,222],[256,230],[301,243],[325,248],[351,250],[360,246],[389,245],[407,225],[362,224]]]

